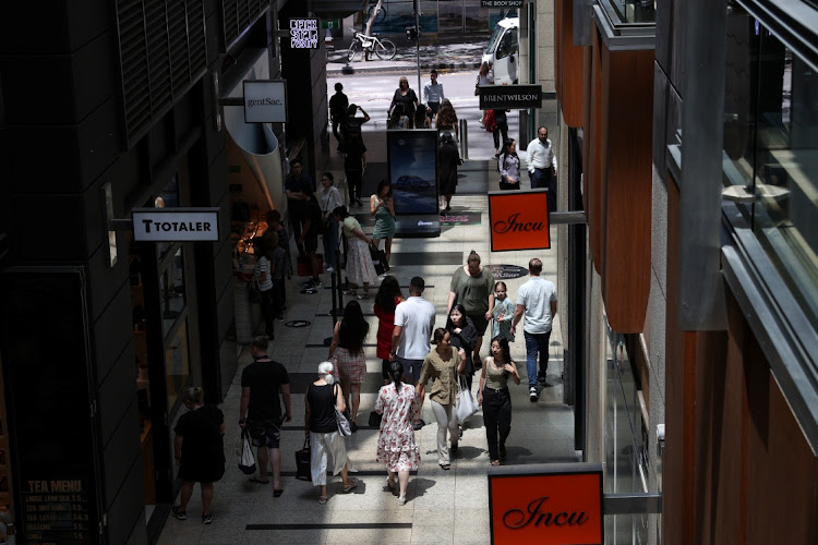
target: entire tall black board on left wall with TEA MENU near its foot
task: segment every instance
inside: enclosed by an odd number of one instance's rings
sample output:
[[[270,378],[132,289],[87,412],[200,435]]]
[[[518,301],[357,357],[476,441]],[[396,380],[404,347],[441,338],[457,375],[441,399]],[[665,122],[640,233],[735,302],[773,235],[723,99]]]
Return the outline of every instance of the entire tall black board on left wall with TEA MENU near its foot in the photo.
[[[14,267],[0,281],[17,540],[26,544],[104,541],[85,290],[80,267]]]

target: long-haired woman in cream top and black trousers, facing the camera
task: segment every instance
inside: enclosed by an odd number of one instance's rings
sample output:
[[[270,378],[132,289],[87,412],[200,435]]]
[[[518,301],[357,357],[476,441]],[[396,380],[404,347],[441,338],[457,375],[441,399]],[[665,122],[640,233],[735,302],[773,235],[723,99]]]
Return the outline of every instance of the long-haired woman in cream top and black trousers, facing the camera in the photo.
[[[494,337],[491,355],[483,362],[478,390],[478,404],[483,407],[485,438],[489,441],[489,459],[492,465],[500,465],[506,457],[506,439],[512,432],[512,396],[508,379],[520,384],[520,374],[512,361],[508,340]]]

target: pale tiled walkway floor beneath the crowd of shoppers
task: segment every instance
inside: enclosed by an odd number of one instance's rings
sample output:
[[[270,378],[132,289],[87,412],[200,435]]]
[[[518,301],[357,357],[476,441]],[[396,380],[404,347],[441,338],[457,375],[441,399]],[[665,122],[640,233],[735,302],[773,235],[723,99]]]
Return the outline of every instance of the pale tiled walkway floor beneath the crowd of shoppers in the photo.
[[[330,166],[336,180],[344,180],[338,157]],[[556,280],[556,246],[539,252],[491,253],[488,229],[488,201],[485,187],[495,179],[493,161],[474,161],[464,166],[461,178],[464,192],[453,199],[453,214],[467,213],[477,220],[473,225],[442,227],[436,239],[398,239],[393,244],[395,267],[390,274],[400,282],[404,294],[408,292],[409,279],[420,275],[425,279],[424,296],[437,308],[437,325],[445,325],[445,310],[449,281],[458,266],[462,266],[471,250],[477,251],[483,264],[509,264],[526,267],[529,258],[543,261],[543,275]],[[344,191],[342,191],[344,192]],[[482,195],[480,193],[482,192]],[[469,193],[469,194],[462,194]],[[365,194],[365,187],[364,187]],[[352,208],[356,214],[364,210]],[[368,216],[368,214],[366,214]],[[364,230],[371,227],[364,227]],[[556,241],[556,228],[552,227],[551,240]],[[552,242],[553,244],[553,242]],[[324,275],[328,283],[328,275]],[[237,468],[233,446],[239,437],[239,398],[241,395],[241,371],[251,359],[248,350],[241,353],[239,371],[220,405],[227,422],[225,450],[227,472],[215,485],[213,524],[201,522],[200,489],[196,485],[193,499],[188,507],[188,520],[169,518],[160,544],[239,544],[239,543],[491,543],[489,525],[489,495],[486,470],[490,467],[482,413],[478,412],[468,423],[454,456],[452,471],[442,470],[436,463],[437,425],[426,402],[422,419],[426,426],[417,432],[421,446],[421,465],[412,474],[408,489],[408,501],[398,507],[396,496],[385,486],[385,470],[375,462],[377,431],[360,426],[348,439],[348,451],[358,469],[359,486],[351,494],[340,491],[340,477],[328,480],[329,500],[318,505],[317,492],[311,483],[294,479],[294,455],[304,440],[303,397],[306,385],[313,380],[317,364],[326,360],[327,348],[323,341],[332,335],[332,295],[328,289],[309,295],[298,293],[298,279],[288,287],[287,320],[306,319],[311,327],[294,329],[276,325],[276,338],[270,355],[281,362],[290,373],[293,421],[284,427],[281,457],[285,493],[273,497],[272,485],[248,482],[246,475]],[[509,296],[516,301],[517,289],[526,277],[506,280]],[[298,282],[298,283],[296,283]],[[557,283],[557,290],[561,287]],[[376,392],[382,384],[381,360],[375,358],[375,332],[377,318],[372,315],[372,300],[365,301],[364,313],[372,326],[366,340],[368,377],[361,396],[359,422],[365,424],[372,410]],[[522,376],[520,386],[512,387],[514,415],[508,438],[506,464],[530,464],[538,462],[576,461],[574,451],[574,416],[570,408],[562,404],[562,353],[563,337],[561,319],[554,323],[551,337],[551,364],[549,383],[540,401],[531,403],[526,386],[525,347],[520,339],[512,344],[512,358],[517,362]],[[488,347],[488,337],[484,342]],[[486,350],[482,355],[486,355]],[[479,380],[474,379],[474,392]]]

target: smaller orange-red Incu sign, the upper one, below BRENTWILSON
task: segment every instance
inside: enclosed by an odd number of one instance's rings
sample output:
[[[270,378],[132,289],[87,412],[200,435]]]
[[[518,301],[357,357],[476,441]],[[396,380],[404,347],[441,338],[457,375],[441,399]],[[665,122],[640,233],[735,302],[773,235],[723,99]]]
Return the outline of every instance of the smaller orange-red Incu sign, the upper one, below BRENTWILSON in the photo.
[[[551,247],[548,191],[489,192],[492,252]]]

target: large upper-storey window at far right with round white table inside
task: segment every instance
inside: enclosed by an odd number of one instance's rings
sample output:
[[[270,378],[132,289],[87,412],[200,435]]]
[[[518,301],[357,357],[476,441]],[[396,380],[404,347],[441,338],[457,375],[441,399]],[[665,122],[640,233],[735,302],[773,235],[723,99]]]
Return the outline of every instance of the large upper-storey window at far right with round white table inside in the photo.
[[[724,196],[818,322],[818,73],[738,9],[726,44]]]

